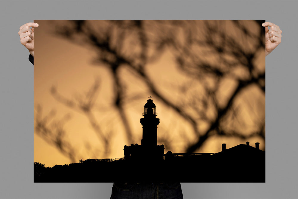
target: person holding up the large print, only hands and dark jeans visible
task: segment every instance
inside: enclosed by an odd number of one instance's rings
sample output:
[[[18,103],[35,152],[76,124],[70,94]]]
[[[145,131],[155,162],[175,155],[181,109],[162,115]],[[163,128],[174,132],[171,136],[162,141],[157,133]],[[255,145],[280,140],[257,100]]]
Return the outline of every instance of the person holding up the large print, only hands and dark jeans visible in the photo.
[[[265,56],[270,54],[280,43],[282,30],[276,24],[265,22]],[[37,23],[29,22],[20,27],[18,32],[21,44],[29,50],[29,61],[34,64],[34,28]],[[268,28],[270,27],[270,29]],[[116,185],[115,185],[116,184]],[[131,191],[123,191],[118,186],[134,186]],[[148,198],[148,196],[157,196],[164,194],[167,198],[183,198],[180,183],[114,183],[112,187],[111,198]]]

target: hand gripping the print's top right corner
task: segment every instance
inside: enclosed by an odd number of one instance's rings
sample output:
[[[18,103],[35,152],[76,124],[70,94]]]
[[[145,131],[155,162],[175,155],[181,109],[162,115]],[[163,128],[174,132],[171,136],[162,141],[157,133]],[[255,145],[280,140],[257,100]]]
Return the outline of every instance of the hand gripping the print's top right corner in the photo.
[[[262,26],[265,26],[265,56],[267,56],[280,44],[283,31],[279,26],[270,22],[265,22]],[[270,30],[268,30],[268,26],[271,27]]]

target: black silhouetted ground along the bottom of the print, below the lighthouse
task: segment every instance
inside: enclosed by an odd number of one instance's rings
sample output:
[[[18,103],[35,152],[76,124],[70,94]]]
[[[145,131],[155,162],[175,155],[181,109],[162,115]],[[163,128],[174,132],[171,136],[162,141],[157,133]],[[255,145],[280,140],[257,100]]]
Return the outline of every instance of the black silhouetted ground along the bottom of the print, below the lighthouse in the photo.
[[[96,161],[44,167],[34,164],[34,182],[265,182],[265,152],[190,155],[162,161]]]

